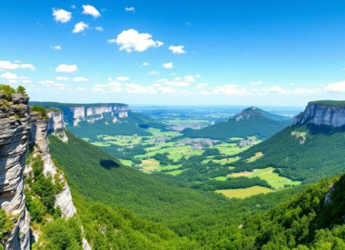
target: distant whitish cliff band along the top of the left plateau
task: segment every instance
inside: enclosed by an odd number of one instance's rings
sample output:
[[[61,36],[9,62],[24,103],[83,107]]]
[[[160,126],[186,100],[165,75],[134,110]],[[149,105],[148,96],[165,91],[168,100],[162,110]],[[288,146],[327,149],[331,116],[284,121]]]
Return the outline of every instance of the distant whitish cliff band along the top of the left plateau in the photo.
[[[95,122],[104,118],[105,114],[111,116],[113,123],[117,122],[119,118],[128,116],[129,106],[127,104],[94,104],[87,106],[72,106],[69,107],[72,116],[73,126],[77,126],[82,120],[87,122]],[[65,115],[68,115],[66,112]]]

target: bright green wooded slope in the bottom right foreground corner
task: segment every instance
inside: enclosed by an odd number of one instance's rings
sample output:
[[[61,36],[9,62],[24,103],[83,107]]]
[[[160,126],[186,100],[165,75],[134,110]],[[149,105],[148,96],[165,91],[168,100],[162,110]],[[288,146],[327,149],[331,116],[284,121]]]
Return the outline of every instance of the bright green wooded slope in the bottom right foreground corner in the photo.
[[[233,231],[229,248],[344,249],[344,187],[345,175],[337,181],[323,180],[290,201],[249,217]]]

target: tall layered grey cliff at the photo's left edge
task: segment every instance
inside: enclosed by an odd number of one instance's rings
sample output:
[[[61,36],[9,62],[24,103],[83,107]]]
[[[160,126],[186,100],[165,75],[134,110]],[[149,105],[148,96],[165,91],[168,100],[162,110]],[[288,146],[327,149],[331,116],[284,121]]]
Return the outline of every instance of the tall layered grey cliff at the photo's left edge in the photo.
[[[30,133],[28,97],[12,94],[7,101],[0,94],[0,207],[14,226],[6,249],[29,249],[30,218],[25,208],[23,170]]]

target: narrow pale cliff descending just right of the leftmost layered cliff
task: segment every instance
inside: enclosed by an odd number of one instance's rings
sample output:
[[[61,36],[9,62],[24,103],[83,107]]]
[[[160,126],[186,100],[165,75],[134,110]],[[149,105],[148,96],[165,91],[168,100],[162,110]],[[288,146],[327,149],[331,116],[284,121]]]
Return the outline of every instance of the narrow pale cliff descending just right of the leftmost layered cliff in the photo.
[[[61,115],[62,116],[62,115]],[[51,118],[52,116],[50,116]],[[49,118],[49,119],[50,119]],[[43,172],[45,175],[59,174],[60,180],[65,182],[63,190],[56,195],[55,206],[60,206],[62,214],[65,217],[70,217],[75,213],[75,207],[72,201],[72,196],[70,194],[69,186],[64,180],[63,174],[58,171],[56,166],[51,160],[48,147],[47,130],[48,130],[48,120],[43,117],[40,113],[31,113],[31,138],[30,143],[34,146],[34,155],[40,154],[44,162]],[[58,124],[61,122],[59,121]],[[58,131],[53,131],[58,132]]]

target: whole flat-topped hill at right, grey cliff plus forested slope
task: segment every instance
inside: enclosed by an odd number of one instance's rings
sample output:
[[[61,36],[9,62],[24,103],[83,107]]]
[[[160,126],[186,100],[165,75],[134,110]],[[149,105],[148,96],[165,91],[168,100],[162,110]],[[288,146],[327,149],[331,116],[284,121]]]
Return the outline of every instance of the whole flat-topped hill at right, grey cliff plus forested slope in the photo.
[[[345,170],[345,102],[311,101],[291,126],[239,154],[235,171],[273,166],[280,175],[310,182]],[[254,161],[248,158],[260,153]]]

